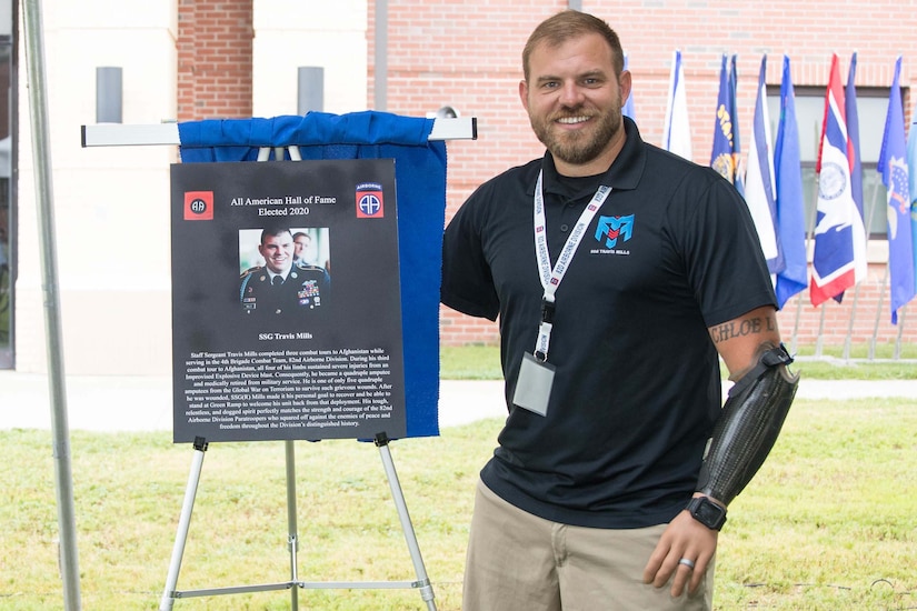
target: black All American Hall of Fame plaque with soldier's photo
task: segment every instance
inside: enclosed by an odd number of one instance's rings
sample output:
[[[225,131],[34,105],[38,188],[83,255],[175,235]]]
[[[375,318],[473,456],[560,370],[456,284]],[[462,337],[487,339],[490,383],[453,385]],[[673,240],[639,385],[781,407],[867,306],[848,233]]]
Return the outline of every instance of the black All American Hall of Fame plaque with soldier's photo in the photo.
[[[393,161],[177,163],[171,202],[173,440],[403,437]]]

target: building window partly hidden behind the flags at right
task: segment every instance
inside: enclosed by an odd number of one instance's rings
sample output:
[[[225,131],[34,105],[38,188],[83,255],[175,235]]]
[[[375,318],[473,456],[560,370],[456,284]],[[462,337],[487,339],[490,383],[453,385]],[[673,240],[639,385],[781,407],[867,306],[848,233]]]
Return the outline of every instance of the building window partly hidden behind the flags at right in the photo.
[[[799,127],[799,158],[803,162],[803,192],[806,202],[806,231],[815,227],[815,204],[818,182],[815,163],[821,141],[821,122],[825,117],[825,88],[797,87],[796,121]],[[868,220],[870,239],[884,240],[888,229],[886,220],[886,192],[881,176],[876,171],[888,112],[889,90],[885,88],[857,88],[857,119],[859,122],[859,156],[863,166],[863,214]],[[777,141],[780,121],[780,87],[767,88],[767,111],[770,134]]]

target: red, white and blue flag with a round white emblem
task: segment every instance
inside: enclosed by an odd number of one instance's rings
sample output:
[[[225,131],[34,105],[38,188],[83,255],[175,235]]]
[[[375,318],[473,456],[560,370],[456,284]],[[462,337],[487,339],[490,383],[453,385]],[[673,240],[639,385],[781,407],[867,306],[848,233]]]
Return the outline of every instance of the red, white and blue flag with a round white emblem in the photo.
[[[829,298],[837,301],[844,291],[866,278],[866,231],[863,213],[853,197],[850,172],[854,156],[847,139],[844,89],[837,56],[825,92],[825,118],[815,171],[818,173],[815,252],[809,297],[813,306]]]

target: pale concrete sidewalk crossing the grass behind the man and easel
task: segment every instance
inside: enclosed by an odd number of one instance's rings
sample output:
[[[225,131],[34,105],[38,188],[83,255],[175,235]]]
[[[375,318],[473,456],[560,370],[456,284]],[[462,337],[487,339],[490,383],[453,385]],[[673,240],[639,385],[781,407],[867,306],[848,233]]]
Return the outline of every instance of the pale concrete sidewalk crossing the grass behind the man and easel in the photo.
[[[168,377],[68,377],[71,430],[171,431],[172,387]],[[800,399],[917,398],[917,380],[864,382],[804,380]],[[440,383],[440,428],[506,417],[501,381]],[[48,378],[0,371],[0,429],[50,429]]]

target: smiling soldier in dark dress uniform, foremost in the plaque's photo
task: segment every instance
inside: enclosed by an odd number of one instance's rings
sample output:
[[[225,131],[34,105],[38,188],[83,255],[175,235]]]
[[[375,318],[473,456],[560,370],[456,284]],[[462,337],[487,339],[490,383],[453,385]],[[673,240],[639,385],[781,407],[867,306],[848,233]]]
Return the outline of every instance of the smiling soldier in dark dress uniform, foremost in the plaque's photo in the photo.
[[[242,272],[239,300],[249,315],[281,315],[327,308],[331,279],[317,266],[293,264],[295,244],[286,228],[261,231],[265,266]]]

